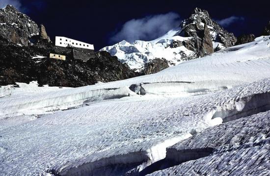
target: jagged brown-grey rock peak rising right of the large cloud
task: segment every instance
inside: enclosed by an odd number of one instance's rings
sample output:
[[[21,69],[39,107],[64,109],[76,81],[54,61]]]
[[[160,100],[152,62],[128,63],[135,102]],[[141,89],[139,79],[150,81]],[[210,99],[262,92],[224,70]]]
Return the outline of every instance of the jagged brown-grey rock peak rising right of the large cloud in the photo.
[[[183,45],[201,57],[232,47],[236,42],[236,37],[232,33],[213,21],[206,10],[199,8],[195,8],[194,13],[184,20],[180,27],[182,30],[177,35],[192,37],[190,41],[183,42]]]

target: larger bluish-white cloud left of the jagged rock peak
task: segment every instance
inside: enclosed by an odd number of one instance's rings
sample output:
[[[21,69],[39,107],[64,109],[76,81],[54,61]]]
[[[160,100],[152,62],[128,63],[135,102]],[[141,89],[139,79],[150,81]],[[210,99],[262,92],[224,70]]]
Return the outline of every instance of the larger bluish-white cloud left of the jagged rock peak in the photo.
[[[133,19],[126,22],[122,26],[122,29],[110,38],[110,43],[114,44],[122,40],[128,42],[153,40],[162,36],[170,29],[177,27],[179,24],[180,17],[173,12]]]

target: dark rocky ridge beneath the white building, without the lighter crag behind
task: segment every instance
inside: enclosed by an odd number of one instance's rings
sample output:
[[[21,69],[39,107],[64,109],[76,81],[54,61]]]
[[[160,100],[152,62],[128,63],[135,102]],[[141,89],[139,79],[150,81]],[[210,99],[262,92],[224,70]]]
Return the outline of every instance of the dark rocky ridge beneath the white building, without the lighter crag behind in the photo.
[[[37,80],[40,86],[80,87],[136,76],[127,64],[106,51],[92,53],[85,62],[75,59],[72,50],[61,52],[67,56],[66,61],[48,58],[48,53],[55,52],[54,47],[8,45],[0,46],[0,50],[0,85]],[[47,57],[32,58],[35,55]]]

